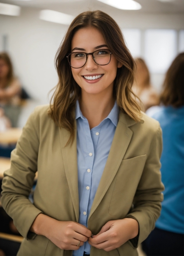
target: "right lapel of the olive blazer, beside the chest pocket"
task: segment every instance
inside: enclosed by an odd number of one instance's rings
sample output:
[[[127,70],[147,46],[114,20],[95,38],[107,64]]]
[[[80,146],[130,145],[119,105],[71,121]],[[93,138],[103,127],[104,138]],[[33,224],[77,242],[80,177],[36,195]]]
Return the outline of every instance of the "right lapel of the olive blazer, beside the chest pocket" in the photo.
[[[132,130],[130,130],[128,126],[132,126],[135,123],[136,122],[129,118],[126,114],[122,112],[119,113],[118,125],[115,130],[114,139],[112,141],[109,156],[103,170],[102,178],[94,197],[89,218],[98,207],[119,169],[121,161],[132,138]]]

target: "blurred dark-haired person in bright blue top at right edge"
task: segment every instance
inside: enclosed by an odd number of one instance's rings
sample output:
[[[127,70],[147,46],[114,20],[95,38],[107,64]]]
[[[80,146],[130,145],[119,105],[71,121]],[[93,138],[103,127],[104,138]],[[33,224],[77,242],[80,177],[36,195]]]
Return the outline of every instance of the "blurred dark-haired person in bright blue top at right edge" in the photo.
[[[161,216],[156,228],[143,242],[147,255],[184,255],[184,53],[179,54],[166,73],[161,106],[147,114],[160,122],[163,132],[161,156],[165,185]]]

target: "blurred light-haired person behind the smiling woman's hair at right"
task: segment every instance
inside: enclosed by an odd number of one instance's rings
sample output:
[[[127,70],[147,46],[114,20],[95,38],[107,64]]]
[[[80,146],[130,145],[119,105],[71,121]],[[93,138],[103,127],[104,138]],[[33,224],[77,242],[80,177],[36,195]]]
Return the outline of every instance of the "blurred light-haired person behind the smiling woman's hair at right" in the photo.
[[[135,62],[137,69],[132,90],[141,100],[141,102],[138,100],[138,103],[141,110],[145,112],[148,108],[159,104],[159,95],[151,85],[150,73],[145,61],[142,58],[137,58]]]

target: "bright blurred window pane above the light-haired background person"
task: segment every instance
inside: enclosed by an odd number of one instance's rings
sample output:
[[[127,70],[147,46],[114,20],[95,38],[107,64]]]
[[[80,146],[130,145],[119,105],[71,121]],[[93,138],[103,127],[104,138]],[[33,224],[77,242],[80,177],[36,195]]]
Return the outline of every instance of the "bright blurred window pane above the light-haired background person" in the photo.
[[[177,54],[177,32],[173,29],[147,29],[144,56],[151,73],[165,73]]]

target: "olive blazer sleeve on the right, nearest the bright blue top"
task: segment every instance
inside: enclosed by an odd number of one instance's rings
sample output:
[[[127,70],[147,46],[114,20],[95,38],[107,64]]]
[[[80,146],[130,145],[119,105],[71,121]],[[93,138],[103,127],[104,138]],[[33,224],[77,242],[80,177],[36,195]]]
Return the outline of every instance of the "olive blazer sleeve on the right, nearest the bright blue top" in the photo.
[[[160,216],[164,185],[161,183],[160,157],[162,152],[162,131],[157,122],[144,170],[133,201],[133,208],[127,218],[134,218],[139,223],[139,234],[131,240],[134,247],[143,242],[155,227]]]

